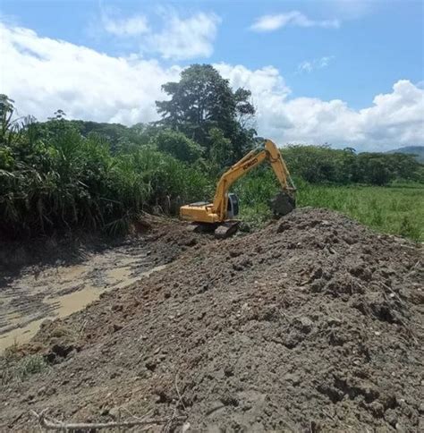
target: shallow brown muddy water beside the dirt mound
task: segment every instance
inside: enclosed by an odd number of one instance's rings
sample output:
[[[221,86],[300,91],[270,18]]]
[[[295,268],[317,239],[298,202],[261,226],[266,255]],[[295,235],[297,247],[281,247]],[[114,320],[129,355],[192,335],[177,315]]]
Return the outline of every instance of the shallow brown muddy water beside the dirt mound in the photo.
[[[30,340],[47,318],[82,310],[101,293],[133,284],[156,266],[142,247],[120,247],[90,255],[79,265],[24,269],[0,286],[0,352]]]

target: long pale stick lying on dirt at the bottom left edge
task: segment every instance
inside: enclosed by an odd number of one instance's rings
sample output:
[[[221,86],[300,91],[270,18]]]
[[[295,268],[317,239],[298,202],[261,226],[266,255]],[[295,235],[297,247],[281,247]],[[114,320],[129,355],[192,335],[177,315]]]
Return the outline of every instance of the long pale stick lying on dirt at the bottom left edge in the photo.
[[[53,418],[47,417],[46,415],[47,409],[37,413],[35,411],[30,411],[32,415],[34,415],[39,425],[47,430],[92,430],[92,429],[111,429],[111,428],[131,428],[135,426],[147,426],[147,425],[155,425],[155,424],[168,424],[170,419],[166,418],[157,418],[151,420],[129,420],[129,421],[118,421],[118,422],[75,422],[75,423],[66,423],[59,420],[55,420]],[[177,422],[179,424],[182,421],[186,420],[187,417],[182,416],[174,416],[172,415],[172,422]]]

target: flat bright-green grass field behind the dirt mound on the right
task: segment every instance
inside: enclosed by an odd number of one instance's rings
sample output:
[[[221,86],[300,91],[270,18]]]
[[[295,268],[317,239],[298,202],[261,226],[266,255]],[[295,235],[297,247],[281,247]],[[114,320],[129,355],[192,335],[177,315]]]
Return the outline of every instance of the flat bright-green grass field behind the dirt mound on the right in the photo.
[[[424,242],[424,185],[394,187],[298,185],[298,207],[335,209],[383,233]],[[270,216],[265,200],[242,206],[242,216],[261,225]]]

